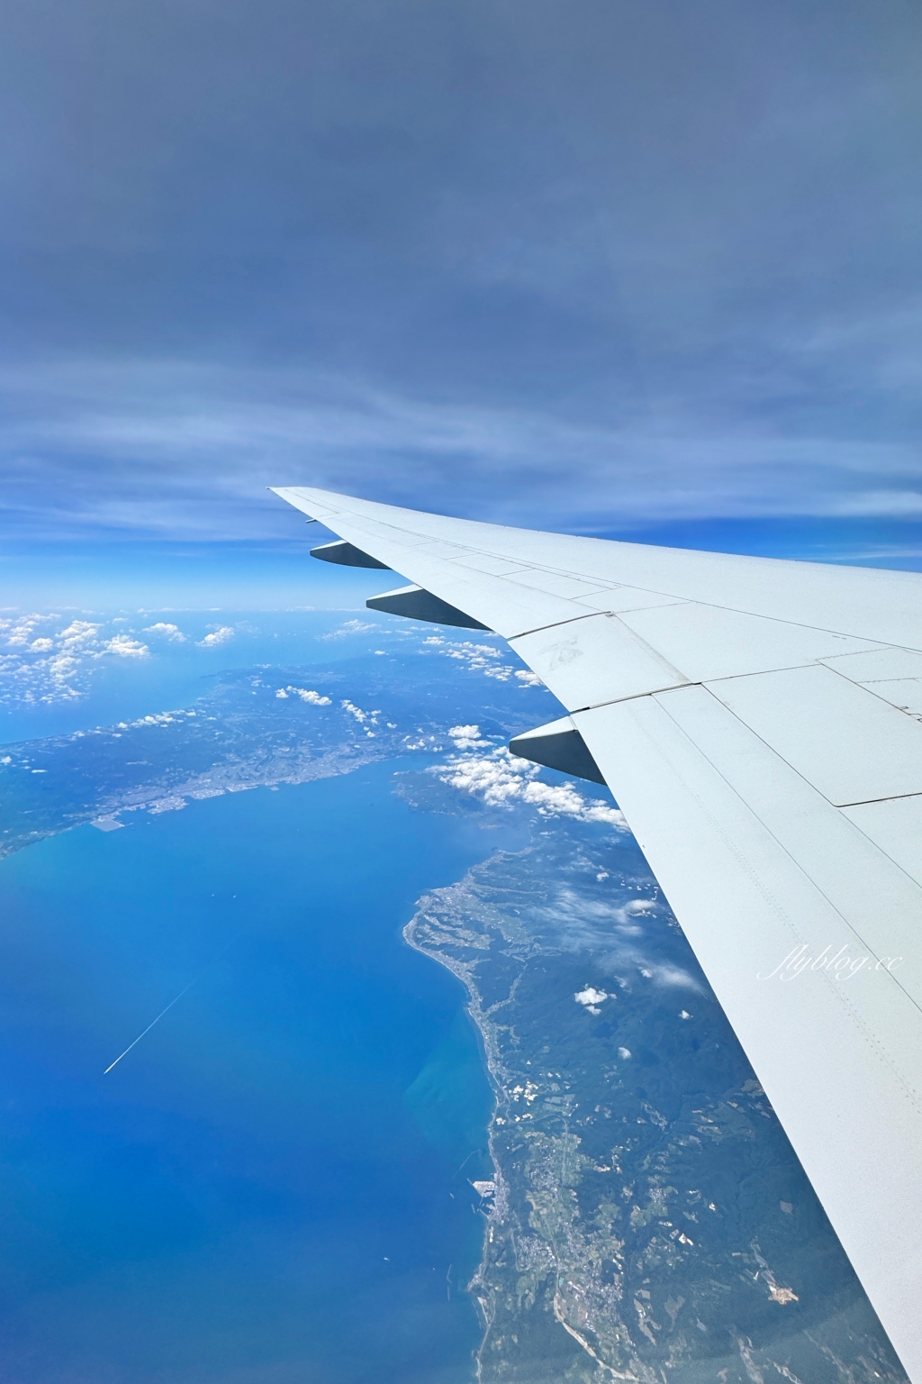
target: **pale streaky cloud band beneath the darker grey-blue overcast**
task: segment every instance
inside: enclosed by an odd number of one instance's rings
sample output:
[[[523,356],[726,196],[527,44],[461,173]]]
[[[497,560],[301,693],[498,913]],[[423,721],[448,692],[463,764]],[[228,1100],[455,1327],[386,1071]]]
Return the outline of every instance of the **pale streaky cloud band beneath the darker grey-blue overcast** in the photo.
[[[922,336],[922,291],[914,329]],[[300,520],[265,493],[279,483],[583,533],[715,516],[918,520],[915,406],[887,381],[922,360],[878,371],[858,356],[809,421],[771,399],[717,400],[704,418],[699,401],[664,397],[611,419],[545,399],[435,403],[310,370],[289,383],[286,367],[0,364],[11,411],[0,459],[12,482],[0,523],[35,536],[300,538]],[[836,368],[824,363],[831,378]],[[838,394],[861,371],[846,407]],[[881,411],[872,426],[867,415]]]

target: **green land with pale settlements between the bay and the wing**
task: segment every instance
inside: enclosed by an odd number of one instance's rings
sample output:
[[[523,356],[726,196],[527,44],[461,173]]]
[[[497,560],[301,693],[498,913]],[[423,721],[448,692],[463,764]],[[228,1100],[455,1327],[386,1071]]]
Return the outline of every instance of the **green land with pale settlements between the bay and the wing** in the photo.
[[[478,1384],[903,1384],[633,840],[538,830],[404,940],[464,985],[493,1092]]]

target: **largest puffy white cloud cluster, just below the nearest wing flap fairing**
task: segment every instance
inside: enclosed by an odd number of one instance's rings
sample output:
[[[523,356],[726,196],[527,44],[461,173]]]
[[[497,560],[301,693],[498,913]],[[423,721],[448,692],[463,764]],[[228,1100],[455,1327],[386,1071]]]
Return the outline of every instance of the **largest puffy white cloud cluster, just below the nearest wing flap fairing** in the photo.
[[[581,822],[605,822],[617,830],[628,830],[628,823],[617,807],[586,799],[572,783],[545,783],[536,775],[539,767],[503,746],[484,756],[456,756],[437,765],[442,783],[462,793],[478,797],[489,807],[503,807],[513,801],[535,807],[542,817],[574,817]]]

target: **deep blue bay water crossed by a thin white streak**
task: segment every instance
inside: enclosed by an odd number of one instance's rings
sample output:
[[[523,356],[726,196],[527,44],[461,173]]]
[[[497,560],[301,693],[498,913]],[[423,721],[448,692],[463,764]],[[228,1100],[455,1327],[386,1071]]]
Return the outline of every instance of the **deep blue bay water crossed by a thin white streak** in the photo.
[[[375,765],[0,862],[6,1380],[470,1377],[491,1096],[399,930],[509,844]]]

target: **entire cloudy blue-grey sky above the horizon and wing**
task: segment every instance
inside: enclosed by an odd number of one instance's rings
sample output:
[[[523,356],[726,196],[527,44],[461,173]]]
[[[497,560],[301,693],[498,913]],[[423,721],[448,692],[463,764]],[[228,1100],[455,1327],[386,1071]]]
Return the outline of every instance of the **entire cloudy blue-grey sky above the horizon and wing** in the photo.
[[[10,0],[0,122],[21,585],[282,590],[290,483],[922,565],[904,0]]]

